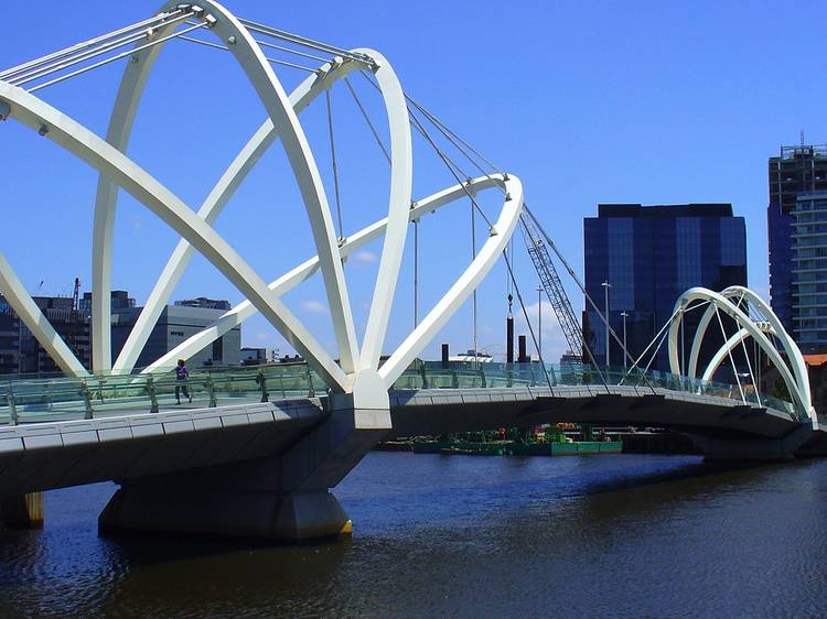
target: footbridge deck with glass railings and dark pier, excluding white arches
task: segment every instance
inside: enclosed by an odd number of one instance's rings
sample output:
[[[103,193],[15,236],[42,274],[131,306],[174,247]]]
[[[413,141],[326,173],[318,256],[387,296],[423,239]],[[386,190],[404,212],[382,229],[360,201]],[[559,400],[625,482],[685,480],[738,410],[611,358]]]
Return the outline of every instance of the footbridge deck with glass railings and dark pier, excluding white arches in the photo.
[[[326,488],[364,453],[346,445],[347,432],[332,431],[346,413],[308,365],[194,372],[192,403],[176,404],[176,385],[170,373],[0,385],[0,496],[114,480],[129,490],[104,512],[104,526],[291,537],[297,518],[308,518],[299,512],[319,503],[319,513],[335,508],[343,525]],[[389,399],[391,428],[375,441],[580,422],[672,427],[715,458],[785,459],[812,450],[821,435],[790,402],[754,392],[744,402],[737,385],[656,372],[417,361]],[[265,489],[309,480],[313,504],[261,511]],[[206,499],[216,496],[230,500],[219,512]],[[303,526],[299,536],[330,533],[325,526]]]

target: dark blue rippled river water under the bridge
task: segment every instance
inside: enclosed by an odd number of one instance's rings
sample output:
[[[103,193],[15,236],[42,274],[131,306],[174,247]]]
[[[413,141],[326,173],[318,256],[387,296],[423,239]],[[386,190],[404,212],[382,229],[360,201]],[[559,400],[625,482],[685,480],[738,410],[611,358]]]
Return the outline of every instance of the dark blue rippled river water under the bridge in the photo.
[[[0,616],[827,616],[827,460],[372,453],[339,544],[104,539],[115,486],[0,532]]]

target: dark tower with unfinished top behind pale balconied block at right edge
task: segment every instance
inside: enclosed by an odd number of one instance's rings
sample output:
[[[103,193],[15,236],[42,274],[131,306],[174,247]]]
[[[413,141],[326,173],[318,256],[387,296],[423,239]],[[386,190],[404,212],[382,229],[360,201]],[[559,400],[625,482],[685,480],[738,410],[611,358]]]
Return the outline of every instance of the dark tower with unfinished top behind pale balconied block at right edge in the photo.
[[[827,192],[827,145],[782,146],[767,167],[770,304],[787,333],[794,334],[793,211],[798,195]]]

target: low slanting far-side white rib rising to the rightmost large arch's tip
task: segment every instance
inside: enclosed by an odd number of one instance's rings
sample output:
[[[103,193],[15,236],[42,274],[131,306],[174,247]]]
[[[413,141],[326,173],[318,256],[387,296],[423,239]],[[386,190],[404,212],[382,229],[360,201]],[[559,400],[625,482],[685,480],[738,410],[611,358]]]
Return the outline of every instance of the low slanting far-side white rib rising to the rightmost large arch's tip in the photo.
[[[513,177],[513,176],[512,176]],[[474,191],[482,192],[492,187],[506,188],[506,182],[503,174],[492,174],[490,176],[480,176],[471,181],[470,186],[465,187]],[[414,220],[421,218],[425,215],[434,213],[438,209],[452,204],[468,194],[463,188],[463,185],[454,185],[427,198],[416,202],[416,206],[408,213],[408,219]],[[387,226],[387,218],[376,221],[366,228],[363,228],[358,232],[351,235],[341,248],[342,258],[347,258],[351,253],[364,247],[365,245],[379,238]],[[315,273],[319,268],[319,258],[314,257],[305,260],[288,273],[281,275],[278,280],[269,284],[269,289],[272,291],[275,296],[281,296],[287,292],[291,291],[303,281],[309,279]],[[155,360],[152,365],[143,369],[143,372],[154,372],[164,369],[171,369],[175,365],[175,360],[183,357],[187,358],[206,346],[210,346],[213,341],[218,339],[221,336],[237,327],[244,323],[247,318],[255,315],[257,312],[256,307],[249,301],[243,301],[236,305],[233,310],[221,316],[215,323],[198,332],[197,334],[185,339],[179,344],[175,348],[170,350],[167,355]]]

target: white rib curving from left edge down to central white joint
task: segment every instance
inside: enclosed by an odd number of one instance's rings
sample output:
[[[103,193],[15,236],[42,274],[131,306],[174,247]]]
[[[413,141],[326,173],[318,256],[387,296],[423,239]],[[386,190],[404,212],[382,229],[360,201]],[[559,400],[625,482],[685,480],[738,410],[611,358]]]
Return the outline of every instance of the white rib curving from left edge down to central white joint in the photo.
[[[10,118],[33,130],[46,127],[47,139],[61,145],[160,217],[204,254],[267,319],[301,351],[330,387],[346,391],[350,381],[333,358],[238,253],[172,192],[101,138],[25,90],[0,82],[0,99],[11,107]]]

